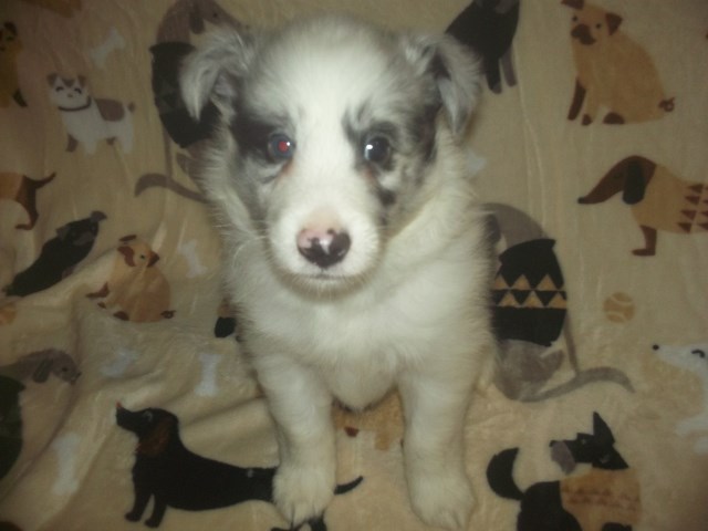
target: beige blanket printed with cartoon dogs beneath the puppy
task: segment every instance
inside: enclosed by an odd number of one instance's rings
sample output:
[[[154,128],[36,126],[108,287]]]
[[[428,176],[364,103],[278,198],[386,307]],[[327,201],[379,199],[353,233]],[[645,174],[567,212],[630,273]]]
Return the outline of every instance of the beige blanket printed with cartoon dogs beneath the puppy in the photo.
[[[177,72],[212,28],[315,10],[483,58],[500,357],[469,530],[708,529],[705,0],[6,0],[0,530],[289,528],[192,179],[217,111],[192,122]],[[337,496],[301,529],[426,529],[398,396],[333,416]]]

